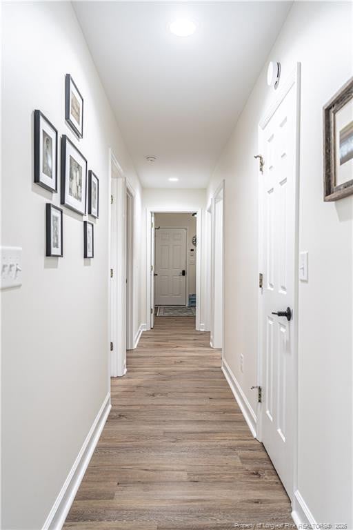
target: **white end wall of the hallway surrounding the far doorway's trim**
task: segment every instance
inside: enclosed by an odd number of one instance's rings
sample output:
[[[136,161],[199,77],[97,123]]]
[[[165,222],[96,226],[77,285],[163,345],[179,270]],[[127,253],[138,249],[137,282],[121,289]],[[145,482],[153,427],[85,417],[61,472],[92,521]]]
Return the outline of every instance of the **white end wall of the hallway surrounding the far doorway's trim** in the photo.
[[[149,228],[146,231],[147,211],[152,212],[196,212],[201,209],[201,264],[205,263],[205,201],[206,191],[204,189],[177,189],[177,188],[143,188],[142,194],[142,240],[141,240],[141,302],[140,306],[143,311],[141,322],[149,322],[149,316],[146,315],[146,271],[147,271],[147,247],[146,240],[150,237]],[[201,307],[200,322],[201,328],[204,326],[205,318],[205,268],[201,269]],[[145,320],[143,320],[145,319]]]

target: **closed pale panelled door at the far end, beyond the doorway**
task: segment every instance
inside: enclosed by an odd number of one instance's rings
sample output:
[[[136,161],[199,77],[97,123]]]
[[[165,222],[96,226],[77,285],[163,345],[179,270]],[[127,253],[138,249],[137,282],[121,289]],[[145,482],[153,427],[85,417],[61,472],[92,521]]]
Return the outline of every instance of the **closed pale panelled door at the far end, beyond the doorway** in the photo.
[[[186,305],[186,230],[156,230],[155,304]]]

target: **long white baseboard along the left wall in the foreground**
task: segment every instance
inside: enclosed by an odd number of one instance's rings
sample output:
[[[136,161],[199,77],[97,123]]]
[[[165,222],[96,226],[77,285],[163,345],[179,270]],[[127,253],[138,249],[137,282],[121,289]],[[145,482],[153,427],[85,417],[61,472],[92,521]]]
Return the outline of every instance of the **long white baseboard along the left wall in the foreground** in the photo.
[[[110,393],[108,393],[105,396],[101,409],[99,410],[99,413],[90,428],[90,432],[83,442],[83,446],[74,461],[74,465],[72,466],[70,473],[63,483],[63,487],[50,510],[46,522],[43,524],[42,530],[61,530],[63,527],[111,408]]]

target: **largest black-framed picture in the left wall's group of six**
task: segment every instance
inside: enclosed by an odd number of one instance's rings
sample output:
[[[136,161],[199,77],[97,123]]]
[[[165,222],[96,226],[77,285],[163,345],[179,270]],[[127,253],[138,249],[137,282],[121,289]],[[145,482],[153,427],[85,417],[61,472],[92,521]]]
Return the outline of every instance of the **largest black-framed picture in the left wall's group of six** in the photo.
[[[85,214],[87,160],[72,141],[61,137],[61,204]]]

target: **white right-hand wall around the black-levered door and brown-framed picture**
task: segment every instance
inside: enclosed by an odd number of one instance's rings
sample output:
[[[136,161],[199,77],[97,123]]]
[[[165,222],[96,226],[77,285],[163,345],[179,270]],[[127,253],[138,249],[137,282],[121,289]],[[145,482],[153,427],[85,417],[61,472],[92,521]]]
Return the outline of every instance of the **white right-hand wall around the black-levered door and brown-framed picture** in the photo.
[[[318,523],[352,529],[353,197],[323,202],[322,108],[352,76],[352,4],[294,3],[269,60],[302,63],[298,489]],[[343,52],[343,50],[345,50]],[[275,95],[264,66],[208,189],[225,179],[225,360],[256,411],[258,124]],[[236,273],[234,274],[234,271]],[[244,356],[244,373],[240,355]]]

